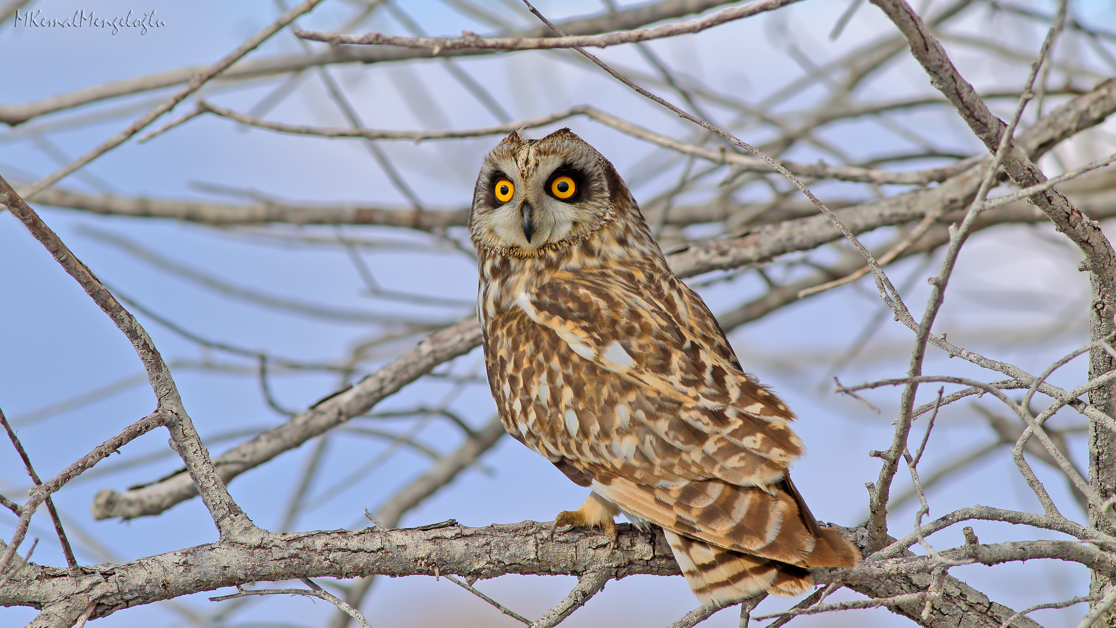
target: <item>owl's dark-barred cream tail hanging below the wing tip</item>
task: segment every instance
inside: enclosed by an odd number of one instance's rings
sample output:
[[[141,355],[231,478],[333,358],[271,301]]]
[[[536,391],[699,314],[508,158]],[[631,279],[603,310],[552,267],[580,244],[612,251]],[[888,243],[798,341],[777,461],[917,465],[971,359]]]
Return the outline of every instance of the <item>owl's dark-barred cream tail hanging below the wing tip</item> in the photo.
[[[710,545],[663,530],[690,590],[703,605],[725,606],[763,591],[798,596],[814,584],[809,570]]]

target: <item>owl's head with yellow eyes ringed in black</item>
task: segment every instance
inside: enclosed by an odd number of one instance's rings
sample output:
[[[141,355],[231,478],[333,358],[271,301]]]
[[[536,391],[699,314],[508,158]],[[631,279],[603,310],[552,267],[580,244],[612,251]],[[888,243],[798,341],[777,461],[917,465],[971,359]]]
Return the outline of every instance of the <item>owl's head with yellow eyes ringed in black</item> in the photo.
[[[478,247],[532,256],[580,241],[634,208],[613,164],[569,129],[541,140],[517,131],[484,158],[469,229]]]

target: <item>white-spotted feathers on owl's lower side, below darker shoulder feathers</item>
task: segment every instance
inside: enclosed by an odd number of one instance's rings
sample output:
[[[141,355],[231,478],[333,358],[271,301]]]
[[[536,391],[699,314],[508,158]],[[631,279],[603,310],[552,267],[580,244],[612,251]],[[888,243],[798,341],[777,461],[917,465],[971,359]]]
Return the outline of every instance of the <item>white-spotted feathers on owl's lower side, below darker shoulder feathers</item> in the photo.
[[[696,457],[705,436],[676,420],[690,411],[676,399],[578,355],[521,310],[489,317],[484,327],[500,418],[536,453],[598,480],[613,474],[648,484],[704,477]]]

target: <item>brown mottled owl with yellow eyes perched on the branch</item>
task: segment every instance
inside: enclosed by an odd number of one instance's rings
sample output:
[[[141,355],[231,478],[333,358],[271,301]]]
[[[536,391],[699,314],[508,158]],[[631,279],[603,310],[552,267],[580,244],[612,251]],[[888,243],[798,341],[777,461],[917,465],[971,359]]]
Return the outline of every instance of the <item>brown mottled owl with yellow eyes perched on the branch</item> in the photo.
[[[569,129],[485,156],[469,229],[484,360],[508,432],[591,488],[555,525],[662,526],[706,605],[796,596],[857,549],[788,475],[795,415],[741,370],[613,164]]]

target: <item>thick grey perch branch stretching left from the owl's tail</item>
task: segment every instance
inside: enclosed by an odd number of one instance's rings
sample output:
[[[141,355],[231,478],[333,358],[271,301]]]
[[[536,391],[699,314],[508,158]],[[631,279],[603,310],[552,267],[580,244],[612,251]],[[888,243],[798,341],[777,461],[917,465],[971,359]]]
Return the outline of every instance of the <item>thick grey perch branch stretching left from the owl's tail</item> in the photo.
[[[296,578],[434,575],[435,570],[465,578],[679,573],[662,533],[620,529],[615,549],[599,533],[580,530],[550,540],[549,525],[536,522],[268,534],[253,545],[219,542],[126,563],[83,567],[86,575],[77,581],[65,569],[32,563],[0,589],[0,605],[42,608],[95,590],[102,594],[93,617],[105,617],[199,591]]]

